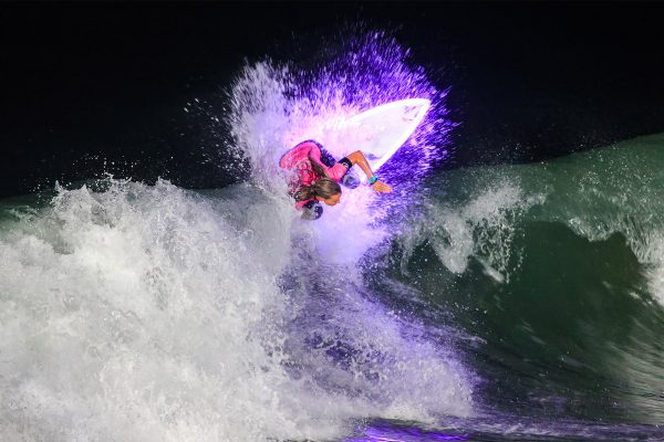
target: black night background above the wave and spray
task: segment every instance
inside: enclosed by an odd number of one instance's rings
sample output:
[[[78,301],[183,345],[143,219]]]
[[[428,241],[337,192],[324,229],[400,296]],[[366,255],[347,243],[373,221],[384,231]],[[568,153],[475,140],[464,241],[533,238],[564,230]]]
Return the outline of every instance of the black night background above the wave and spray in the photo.
[[[219,103],[246,59],[305,62],[352,23],[452,87],[445,168],[664,131],[656,3],[1,3],[0,197],[104,171],[232,182],[183,107]]]

